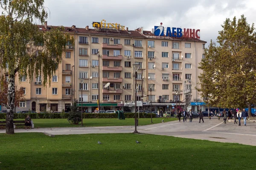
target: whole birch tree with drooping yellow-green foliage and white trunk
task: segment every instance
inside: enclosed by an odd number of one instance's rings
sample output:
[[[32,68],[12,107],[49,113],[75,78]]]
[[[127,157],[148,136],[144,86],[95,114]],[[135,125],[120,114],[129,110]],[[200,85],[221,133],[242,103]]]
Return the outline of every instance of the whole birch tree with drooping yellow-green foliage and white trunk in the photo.
[[[45,86],[61,63],[66,43],[73,43],[73,38],[63,27],[44,32],[38,29],[35,20],[44,23],[47,18],[44,0],[0,0],[0,7],[0,67],[9,66],[6,133],[13,134],[15,75],[25,75],[29,82],[40,75]]]

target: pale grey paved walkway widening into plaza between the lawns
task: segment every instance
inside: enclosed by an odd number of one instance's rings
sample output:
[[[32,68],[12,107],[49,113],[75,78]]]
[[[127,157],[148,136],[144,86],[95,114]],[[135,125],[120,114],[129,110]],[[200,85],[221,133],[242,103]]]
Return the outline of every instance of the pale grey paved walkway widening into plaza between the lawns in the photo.
[[[140,120],[139,120],[140,122]],[[227,122],[225,125],[222,119],[213,118],[206,119],[204,123],[199,123],[198,119],[193,122],[165,122],[154,125],[138,126],[140,133],[175,136],[191,139],[203,139],[216,142],[232,142],[256,146],[256,123],[247,122],[247,126],[234,125]],[[131,133],[134,126],[108,126],[108,127],[61,127],[61,128],[35,128],[35,129],[15,129],[15,133],[41,132],[52,135],[68,135],[68,134],[88,134],[88,133]],[[5,133],[5,130],[0,130]]]

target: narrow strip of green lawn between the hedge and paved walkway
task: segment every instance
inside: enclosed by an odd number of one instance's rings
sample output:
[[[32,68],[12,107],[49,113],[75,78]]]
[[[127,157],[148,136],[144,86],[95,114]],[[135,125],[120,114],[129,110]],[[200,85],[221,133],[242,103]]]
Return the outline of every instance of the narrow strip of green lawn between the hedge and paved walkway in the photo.
[[[153,123],[160,123],[164,118],[152,118]],[[3,119],[0,119],[3,120]],[[23,119],[15,119],[23,120]],[[36,127],[78,127],[80,125],[70,125],[67,119],[32,119]],[[177,120],[176,118],[164,119],[165,122]],[[139,125],[150,125],[150,118],[140,118]],[[131,126],[134,125],[134,119],[83,119],[84,126]],[[22,127],[22,126],[18,126]],[[23,127],[22,127],[23,128]]]

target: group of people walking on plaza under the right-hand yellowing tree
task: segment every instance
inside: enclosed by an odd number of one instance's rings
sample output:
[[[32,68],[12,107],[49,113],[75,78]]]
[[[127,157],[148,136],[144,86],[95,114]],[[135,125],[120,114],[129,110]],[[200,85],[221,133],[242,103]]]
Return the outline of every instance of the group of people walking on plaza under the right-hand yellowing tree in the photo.
[[[227,121],[227,116],[228,116],[228,119],[231,119],[231,111],[229,110],[228,112],[230,112],[230,113],[227,113],[227,111],[226,110],[224,110],[223,112],[222,112],[222,117],[223,117],[223,120],[224,120],[224,124],[227,124],[226,123],[226,121]],[[241,118],[243,118],[244,119],[244,126],[246,126],[246,119],[249,117],[249,115],[248,115],[248,112],[247,111],[245,111],[245,109],[243,109],[243,111],[241,111],[240,109],[236,109],[236,108],[234,108],[233,109],[233,111],[232,111],[232,113],[233,113],[233,117],[234,117],[234,124],[237,124],[237,122],[236,122],[236,119],[238,119],[238,122],[239,122],[239,126],[241,126]]]

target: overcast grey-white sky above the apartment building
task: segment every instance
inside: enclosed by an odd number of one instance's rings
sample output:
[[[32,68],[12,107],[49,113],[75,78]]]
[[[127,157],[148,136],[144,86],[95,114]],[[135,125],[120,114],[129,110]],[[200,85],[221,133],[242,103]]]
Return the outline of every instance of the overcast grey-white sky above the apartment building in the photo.
[[[104,19],[150,31],[162,22],[164,27],[200,29],[207,42],[216,41],[226,18],[244,14],[252,24],[256,13],[256,0],[45,0],[45,6],[48,25],[93,28],[93,21]]]

